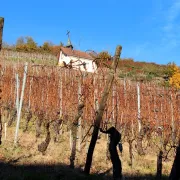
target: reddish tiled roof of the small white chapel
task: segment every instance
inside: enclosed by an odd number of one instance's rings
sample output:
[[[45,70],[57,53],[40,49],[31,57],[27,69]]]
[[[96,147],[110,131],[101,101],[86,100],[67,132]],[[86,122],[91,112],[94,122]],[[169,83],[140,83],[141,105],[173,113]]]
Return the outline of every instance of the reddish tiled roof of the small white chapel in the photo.
[[[85,58],[85,59],[91,59],[91,60],[94,59],[91,55],[83,51],[73,50],[71,48],[66,48],[66,47],[61,47],[61,50],[64,54],[68,56],[75,56],[78,58]]]

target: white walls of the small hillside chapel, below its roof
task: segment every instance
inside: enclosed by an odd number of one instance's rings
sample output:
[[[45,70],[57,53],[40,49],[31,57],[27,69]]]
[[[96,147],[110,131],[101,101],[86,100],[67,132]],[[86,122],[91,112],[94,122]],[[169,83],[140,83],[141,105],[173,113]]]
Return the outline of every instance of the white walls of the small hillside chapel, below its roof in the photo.
[[[97,69],[97,65],[90,59],[77,58],[74,56],[66,56],[65,54],[62,53],[62,51],[60,51],[59,63],[58,63],[59,65],[62,64],[63,61],[66,64],[69,64],[71,60],[74,62],[72,64],[74,69],[80,68],[81,71],[87,71],[87,72],[95,72]],[[85,65],[86,69],[84,68],[82,63],[86,64]]]

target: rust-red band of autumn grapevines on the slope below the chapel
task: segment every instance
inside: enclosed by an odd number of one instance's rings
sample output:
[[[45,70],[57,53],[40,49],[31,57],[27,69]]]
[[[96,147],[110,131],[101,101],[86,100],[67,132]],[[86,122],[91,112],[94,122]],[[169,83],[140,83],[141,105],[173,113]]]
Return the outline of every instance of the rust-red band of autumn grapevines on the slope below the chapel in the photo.
[[[35,130],[37,139],[45,134],[46,142],[50,137],[58,142],[68,132],[71,150],[74,136],[79,152],[84,151],[84,143],[88,149],[87,139],[107,83],[107,69],[89,74],[32,63],[26,65],[27,72],[21,63],[3,63],[1,68],[3,129],[16,126],[15,144],[19,140],[19,119],[20,128],[24,132]],[[148,148],[166,160],[174,154],[180,136],[180,92],[115,76],[101,127],[112,125],[121,132],[122,144],[128,144],[130,166],[134,154],[143,155]],[[48,148],[40,147],[43,153]]]

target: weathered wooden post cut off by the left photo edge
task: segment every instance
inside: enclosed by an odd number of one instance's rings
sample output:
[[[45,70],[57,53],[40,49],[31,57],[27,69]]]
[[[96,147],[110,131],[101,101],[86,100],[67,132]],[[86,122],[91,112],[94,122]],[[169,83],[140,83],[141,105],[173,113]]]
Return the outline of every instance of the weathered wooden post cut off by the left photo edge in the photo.
[[[0,17],[0,51],[2,48],[2,34],[3,34],[3,27],[4,27],[4,18]],[[0,70],[1,70],[1,64],[0,64]],[[2,80],[1,77],[1,71],[0,71],[0,81]],[[1,111],[2,111],[2,97],[1,97],[1,82],[0,82],[0,144],[1,144],[1,137],[2,137],[2,119],[1,119]]]

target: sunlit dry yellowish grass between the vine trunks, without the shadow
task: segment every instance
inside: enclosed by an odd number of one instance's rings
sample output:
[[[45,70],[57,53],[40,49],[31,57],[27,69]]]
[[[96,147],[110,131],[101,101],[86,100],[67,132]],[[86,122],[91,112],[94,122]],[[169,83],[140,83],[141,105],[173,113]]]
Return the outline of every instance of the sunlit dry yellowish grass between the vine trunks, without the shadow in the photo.
[[[22,130],[19,132],[19,142],[17,146],[13,145],[15,128],[11,127],[7,129],[7,140],[2,139],[3,144],[0,147],[0,162],[4,164],[13,164],[15,166],[52,166],[55,171],[60,171],[62,167],[58,164],[69,165],[70,157],[70,143],[69,133],[65,132],[59,138],[58,143],[54,143],[51,140],[50,145],[46,151],[46,155],[42,155],[37,151],[37,146],[45,138],[43,135],[36,140],[34,132],[24,133]],[[4,136],[3,136],[4,137]],[[112,175],[112,165],[109,160],[106,160],[106,137],[102,135],[98,139],[91,168],[92,174],[106,174]],[[77,158],[75,167],[82,170],[86,160],[86,149],[81,149],[81,152],[77,152]],[[155,152],[149,152],[147,155],[140,157],[134,153],[133,167],[129,166],[129,154],[128,145],[124,144],[123,153],[119,154],[123,174],[125,177],[142,176],[147,177],[155,175],[156,172],[156,154]],[[172,166],[172,160],[163,163],[163,174],[168,175]],[[68,170],[69,171],[69,170]],[[70,178],[72,179],[72,178]],[[85,178],[86,179],[86,178]],[[100,179],[100,177],[99,177]],[[109,178],[108,178],[109,179]],[[128,179],[128,178],[126,178]],[[131,178],[130,178],[131,179]],[[140,179],[140,178],[139,178]],[[153,178],[152,178],[153,179]]]

